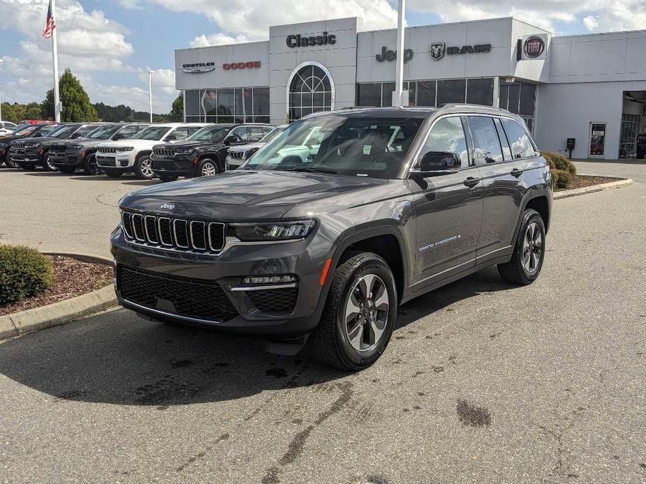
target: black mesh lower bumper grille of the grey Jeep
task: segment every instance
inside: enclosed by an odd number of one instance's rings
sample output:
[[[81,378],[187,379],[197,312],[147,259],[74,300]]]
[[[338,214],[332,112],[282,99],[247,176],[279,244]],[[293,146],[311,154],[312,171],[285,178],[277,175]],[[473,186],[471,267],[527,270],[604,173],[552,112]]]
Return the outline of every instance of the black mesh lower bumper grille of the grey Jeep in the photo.
[[[223,322],[238,313],[215,281],[117,266],[117,289],[130,303],[168,314]]]

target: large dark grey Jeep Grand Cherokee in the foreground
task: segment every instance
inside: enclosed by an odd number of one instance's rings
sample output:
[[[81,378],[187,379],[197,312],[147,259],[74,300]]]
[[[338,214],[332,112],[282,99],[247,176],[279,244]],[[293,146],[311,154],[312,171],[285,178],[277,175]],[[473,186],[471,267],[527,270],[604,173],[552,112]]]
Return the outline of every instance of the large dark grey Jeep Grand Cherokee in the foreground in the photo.
[[[318,133],[317,144],[303,144]],[[230,172],[130,192],[112,233],[119,301],[149,319],[306,343],[346,370],[397,306],[486,266],[545,257],[552,179],[519,116],[470,105],[313,114]]]

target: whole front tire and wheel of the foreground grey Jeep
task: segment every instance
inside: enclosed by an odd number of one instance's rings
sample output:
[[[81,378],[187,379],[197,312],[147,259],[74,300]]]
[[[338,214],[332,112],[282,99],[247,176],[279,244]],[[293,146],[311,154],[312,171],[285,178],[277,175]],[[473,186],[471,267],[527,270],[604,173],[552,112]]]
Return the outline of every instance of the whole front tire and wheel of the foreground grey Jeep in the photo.
[[[353,252],[332,277],[310,344],[323,363],[362,370],[377,361],[390,341],[397,318],[395,278],[386,261],[372,252]]]

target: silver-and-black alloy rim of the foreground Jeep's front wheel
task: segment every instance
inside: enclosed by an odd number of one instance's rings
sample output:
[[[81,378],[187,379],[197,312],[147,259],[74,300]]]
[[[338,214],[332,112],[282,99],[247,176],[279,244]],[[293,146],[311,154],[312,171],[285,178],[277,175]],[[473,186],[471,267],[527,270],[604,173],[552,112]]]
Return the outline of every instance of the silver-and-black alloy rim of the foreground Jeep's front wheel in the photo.
[[[379,275],[363,275],[346,303],[346,335],[354,349],[369,351],[379,343],[388,324],[389,310],[386,284]]]

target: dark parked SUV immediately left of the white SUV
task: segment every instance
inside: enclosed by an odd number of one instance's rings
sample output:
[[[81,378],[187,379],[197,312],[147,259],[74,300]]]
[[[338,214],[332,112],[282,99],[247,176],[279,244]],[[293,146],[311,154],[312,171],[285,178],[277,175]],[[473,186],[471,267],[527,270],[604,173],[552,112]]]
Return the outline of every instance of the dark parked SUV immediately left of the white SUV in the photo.
[[[98,126],[82,139],[50,145],[48,165],[62,173],[74,173],[82,169],[86,174],[98,175],[101,168],[96,164],[98,145],[111,139],[128,139],[150,123],[115,123]]]

